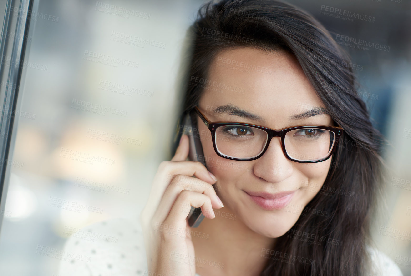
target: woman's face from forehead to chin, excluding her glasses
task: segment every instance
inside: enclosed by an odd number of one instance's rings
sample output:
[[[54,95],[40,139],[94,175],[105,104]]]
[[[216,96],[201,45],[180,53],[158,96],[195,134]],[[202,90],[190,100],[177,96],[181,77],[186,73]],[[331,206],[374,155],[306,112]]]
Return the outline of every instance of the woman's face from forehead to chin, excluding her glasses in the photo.
[[[254,48],[222,51],[212,62],[205,82],[192,77],[192,83],[205,87],[199,108],[211,122],[244,122],[271,129],[332,126],[331,117],[321,112],[295,116],[325,106],[289,53],[264,53]],[[228,105],[259,120],[219,108]],[[218,179],[217,194],[227,211],[256,233],[266,237],[284,235],[320,191],[331,157],[311,164],[291,161],[282,151],[281,138],[274,137],[259,159],[224,159],[215,153],[210,131],[197,118],[207,168]],[[277,198],[284,192],[289,195]]]

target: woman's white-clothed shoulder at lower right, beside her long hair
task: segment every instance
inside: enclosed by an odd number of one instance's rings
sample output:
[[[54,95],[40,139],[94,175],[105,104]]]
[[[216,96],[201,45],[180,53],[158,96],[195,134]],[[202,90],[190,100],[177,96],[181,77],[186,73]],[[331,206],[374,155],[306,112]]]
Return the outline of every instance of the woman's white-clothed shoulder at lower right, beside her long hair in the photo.
[[[372,269],[374,270],[374,274],[372,274],[372,276],[403,276],[398,265],[393,260],[391,260],[391,258],[388,257],[386,254],[371,246],[367,246],[367,250],[371,258]]]

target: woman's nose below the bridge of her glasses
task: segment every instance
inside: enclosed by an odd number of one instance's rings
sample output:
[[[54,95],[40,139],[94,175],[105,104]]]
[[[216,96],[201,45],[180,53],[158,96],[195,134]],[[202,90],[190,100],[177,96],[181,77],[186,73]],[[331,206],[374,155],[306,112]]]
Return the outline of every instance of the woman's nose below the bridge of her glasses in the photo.
[[[271,143],[266,152],[254,163],[254,175],[270,183],[279,183],[290,177],[293,173],[293,161],[287,159],[282,147],[281,138],[271,138]]]

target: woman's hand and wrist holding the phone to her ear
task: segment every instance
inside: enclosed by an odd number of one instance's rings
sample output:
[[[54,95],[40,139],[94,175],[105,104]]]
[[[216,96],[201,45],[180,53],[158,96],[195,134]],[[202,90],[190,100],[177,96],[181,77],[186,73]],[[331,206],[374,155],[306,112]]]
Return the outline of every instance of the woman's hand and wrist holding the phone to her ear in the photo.
[[[211,185],[217,179],[200,162],[185,161],[188,152],[189,139],[183,135],[171,161],[160,163],[141,212],[148,274],[194,276],[187,215],[191,206],[201,207],[206,218],[214,219],[212,208],[223,207]]]

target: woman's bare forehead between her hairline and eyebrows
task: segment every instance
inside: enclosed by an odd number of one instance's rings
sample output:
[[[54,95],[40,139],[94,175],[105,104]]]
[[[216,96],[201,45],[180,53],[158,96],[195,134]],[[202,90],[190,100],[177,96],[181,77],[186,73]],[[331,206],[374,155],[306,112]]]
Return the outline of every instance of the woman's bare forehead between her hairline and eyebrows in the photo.
[[[203,81],[200,106],[231,104],[277,124],[303,110],[323,107],[296,58],[236,48],[218,53]]]

